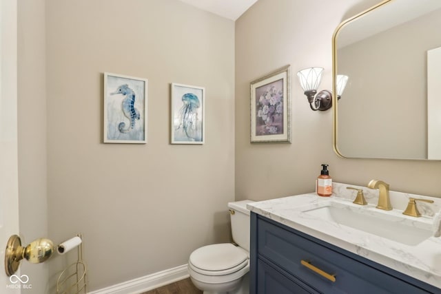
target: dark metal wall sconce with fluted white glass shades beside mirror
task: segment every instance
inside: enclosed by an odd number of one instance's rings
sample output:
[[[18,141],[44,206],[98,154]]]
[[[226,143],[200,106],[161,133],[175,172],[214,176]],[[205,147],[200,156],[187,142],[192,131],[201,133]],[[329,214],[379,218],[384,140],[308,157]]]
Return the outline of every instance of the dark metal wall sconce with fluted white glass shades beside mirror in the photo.
[[[308,98],[309,106],[312,110],[325,111],[332,106],[332,93],[328,90],[322,90],[317,93],[318,86],[322,81],[323,68],[322,67],[309,67],[305,70],[300,70],[297,73],[298,81],[305,91],[305,95]],[[340,95],[345,90],[347,83],[347,76],[337,76],[337,97],[340,99]]]

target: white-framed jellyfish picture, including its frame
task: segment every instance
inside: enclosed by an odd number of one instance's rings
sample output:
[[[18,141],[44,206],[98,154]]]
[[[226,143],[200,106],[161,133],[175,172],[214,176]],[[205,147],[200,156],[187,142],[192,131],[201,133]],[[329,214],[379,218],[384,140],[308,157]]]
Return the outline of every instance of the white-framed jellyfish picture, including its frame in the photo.
[[[205,142],[205,88],[172,83],[172,144]]]

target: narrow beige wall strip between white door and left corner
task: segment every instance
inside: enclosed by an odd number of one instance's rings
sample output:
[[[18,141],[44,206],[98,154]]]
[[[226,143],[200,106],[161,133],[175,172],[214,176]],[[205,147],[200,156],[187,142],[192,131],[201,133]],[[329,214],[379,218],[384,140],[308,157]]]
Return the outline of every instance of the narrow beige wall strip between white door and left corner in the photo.
[[[48,237],[46,185],[45,0],[18,3],[20,235],[24,245]],[[32,293],[48,293],[48,263],[21,262]]]

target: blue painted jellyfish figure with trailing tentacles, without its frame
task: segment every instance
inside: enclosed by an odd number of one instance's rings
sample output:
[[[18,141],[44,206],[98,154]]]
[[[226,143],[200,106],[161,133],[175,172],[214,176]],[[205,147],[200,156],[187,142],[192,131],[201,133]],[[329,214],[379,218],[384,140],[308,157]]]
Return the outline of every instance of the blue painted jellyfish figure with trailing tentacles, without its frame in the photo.
[[[182,96],[183,105],[179,109],[178,126],[176,130],[182,129],[188,140],[198,140],[198,108],[201,106],[198,96],[186,93]]]

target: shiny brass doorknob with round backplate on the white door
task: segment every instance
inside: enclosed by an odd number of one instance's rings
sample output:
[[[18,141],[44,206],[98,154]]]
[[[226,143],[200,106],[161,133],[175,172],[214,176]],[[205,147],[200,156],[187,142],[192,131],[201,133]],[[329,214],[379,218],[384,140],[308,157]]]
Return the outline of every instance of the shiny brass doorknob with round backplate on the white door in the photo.
[[[48,260],[54,253],[54,243],[45,238],[39,238],[28,246],[21,246],[21,239],[18,235],[10,236],[5,252],[6,275],[10,277],[18,269],[20,261],[24,258],[28,262],[38,264]]]

